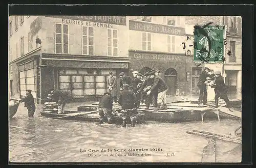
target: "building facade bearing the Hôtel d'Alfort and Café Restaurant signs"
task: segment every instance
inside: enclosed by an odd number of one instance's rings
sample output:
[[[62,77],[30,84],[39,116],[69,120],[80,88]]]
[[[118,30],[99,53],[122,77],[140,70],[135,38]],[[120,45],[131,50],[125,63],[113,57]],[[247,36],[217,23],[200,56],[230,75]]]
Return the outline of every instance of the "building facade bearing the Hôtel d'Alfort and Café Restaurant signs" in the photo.
[[[194,78],[203,65],[193,63],[193,35],[186,32],[184,16],[130,16],[130,74],[158,69],[169,87],[167,95],[197,95]]]

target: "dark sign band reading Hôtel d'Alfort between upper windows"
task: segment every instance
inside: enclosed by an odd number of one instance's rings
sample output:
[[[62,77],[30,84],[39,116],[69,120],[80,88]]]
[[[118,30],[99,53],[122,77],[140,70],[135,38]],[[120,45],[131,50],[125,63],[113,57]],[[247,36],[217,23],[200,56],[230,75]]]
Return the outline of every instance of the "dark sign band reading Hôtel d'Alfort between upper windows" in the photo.
[[[134,31],[160,33],[176,36],[184,36],[185,28],[163,24],[147,23],[142,21],[129,20],[129,29]]]

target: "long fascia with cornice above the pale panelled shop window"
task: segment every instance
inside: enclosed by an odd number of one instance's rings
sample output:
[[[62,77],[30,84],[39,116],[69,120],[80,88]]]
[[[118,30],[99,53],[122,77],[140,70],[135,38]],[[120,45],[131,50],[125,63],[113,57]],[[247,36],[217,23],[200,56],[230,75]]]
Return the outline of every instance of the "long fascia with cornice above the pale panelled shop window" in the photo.
[[[42,65],[63,68],[128,69],[127,61],[42,58]]]

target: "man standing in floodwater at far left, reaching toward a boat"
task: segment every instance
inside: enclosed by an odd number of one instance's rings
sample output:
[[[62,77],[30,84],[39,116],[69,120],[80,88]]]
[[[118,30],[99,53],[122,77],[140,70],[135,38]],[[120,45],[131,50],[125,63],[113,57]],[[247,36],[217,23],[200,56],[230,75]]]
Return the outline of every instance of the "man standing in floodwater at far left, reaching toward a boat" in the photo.
[[[19,102],[25,102],[24,103],[24,107],[27,107],[28,109],[28,116],[29,118],[33,118],[34,117],[34,113],[35,113],[35,103],[34,103],[34,97],[31,94],[31,90],[26,90],[26,97],[19,100]]]

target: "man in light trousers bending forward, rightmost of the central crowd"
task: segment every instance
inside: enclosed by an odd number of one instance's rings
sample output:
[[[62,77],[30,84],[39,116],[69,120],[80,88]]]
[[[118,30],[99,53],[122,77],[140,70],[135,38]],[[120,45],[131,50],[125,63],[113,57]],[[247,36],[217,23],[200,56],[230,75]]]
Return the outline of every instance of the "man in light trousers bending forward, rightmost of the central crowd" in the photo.
[[[167,109],[167,102],[166,102],[166,92],[168,90],[168,86],[166,85],[165,81],[158,75],[155,75],[155,73],[151,73],[151,76],[154,76],[154,83],[150,91],[148,91],[147,94],[150,94],[151,92],[158,92],[157,96],[157,106],[155,106],[155,110],[161,109],[161,103],[163,102],[163,109]]]

